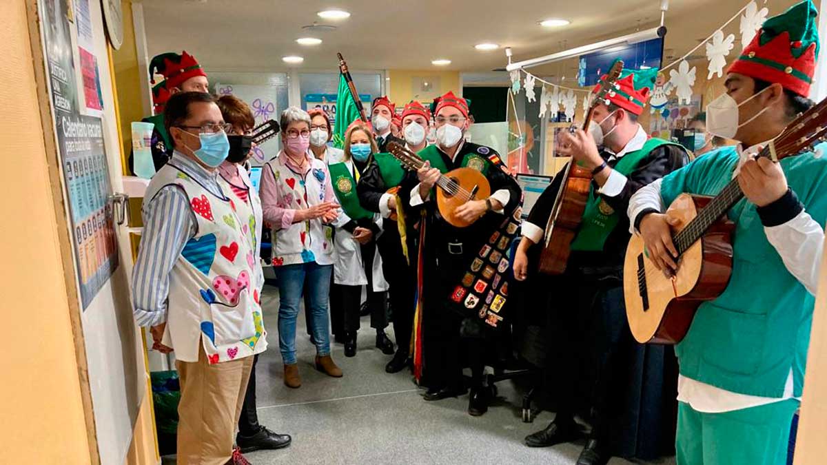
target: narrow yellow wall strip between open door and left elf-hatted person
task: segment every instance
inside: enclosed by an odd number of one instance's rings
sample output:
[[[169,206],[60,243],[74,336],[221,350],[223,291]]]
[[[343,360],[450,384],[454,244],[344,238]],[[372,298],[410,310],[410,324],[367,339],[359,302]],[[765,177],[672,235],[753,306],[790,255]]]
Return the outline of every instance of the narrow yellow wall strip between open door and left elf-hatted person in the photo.
[[[121,113],[121,133],[123,135],[123,153],[129,156],[132,146],[131,122],[141,121],[148,115],[143,114],[141,103],[141,72],[138,69],[138,55],[135,49],[135,28],[132,25],[132,2],[122,0],[123,7],[123,44],[121,50],[112,50],[112,65],[115,67],[117,80],[117,104]],[[127,174],[126,168],[124,174]]]

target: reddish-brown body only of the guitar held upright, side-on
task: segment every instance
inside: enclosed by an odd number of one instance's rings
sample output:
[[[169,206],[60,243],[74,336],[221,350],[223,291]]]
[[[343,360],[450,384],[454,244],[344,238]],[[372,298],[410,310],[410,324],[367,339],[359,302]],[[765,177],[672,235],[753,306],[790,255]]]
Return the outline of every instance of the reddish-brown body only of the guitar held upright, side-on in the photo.
[[[574,165],[571,174],[566,180],[566,189],[560,201],[557,219],[549,218],[546,228],[546,245],[540,252],[538,270],[546,275],[562,275],[566,271],[566,263],[571,254],[571,241],[576,236],[577,229],[586,211],[586,202],[589,200],[591,173],[578,165]]]

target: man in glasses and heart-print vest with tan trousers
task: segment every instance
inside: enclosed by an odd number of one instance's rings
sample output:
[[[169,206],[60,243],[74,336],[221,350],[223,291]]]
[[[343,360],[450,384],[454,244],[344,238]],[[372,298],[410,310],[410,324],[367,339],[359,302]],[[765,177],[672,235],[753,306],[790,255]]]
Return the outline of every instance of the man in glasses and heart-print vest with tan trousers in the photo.
[[[174,153],[144,196],[134,315],[151,328],[155,350],[175,352],[178,463],[247,463],[233,436],[254,356],[267,343],[261,271],[245,258],[256,253],[255,225],[242,228],[243,209],[218,175],[232,127],[208,93],[173,95],[164,111]]]

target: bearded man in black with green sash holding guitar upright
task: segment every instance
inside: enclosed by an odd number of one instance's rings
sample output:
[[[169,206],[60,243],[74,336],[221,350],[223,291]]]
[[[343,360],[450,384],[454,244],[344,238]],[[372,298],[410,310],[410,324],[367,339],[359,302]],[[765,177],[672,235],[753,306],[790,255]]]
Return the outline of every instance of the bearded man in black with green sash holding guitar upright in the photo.
[[[581,226],[571,242],[565,273],[532,276],[530,283],[544,290],[542,294],[552,290],[554,296],[548,324],[553,332],[549,338],[553,346],[548,360],[549,369],[553,367],[557,374],[554,399],[559,407],[554,421],[546,429],[529,435],[526,443],[530,447],[547,447],[580,437],[574,415],[576,409],[590,406],[594,412],[593,428],[578,465],[605,463],[612,455],[649,459],[662,453],[663,441],[657,434],[646,434],[645,441],[637,439],[643,424],[657,423],[658,419],[638,422],[622,415],[624,405],[633,405],[627,402],[629,399],[641,403],[630,407],[636,414],[643,410],[647,410],[647,415],[659,412],[660,393],[668,391],[662,381],[671,354],[663,347],[634,343],[626,324],[622,277],[629,243],[624,215],[629,199],[641,186],[688,162],[686,149],[661,139],[649,139],[638,124],[638,115],[643,112],[656,76],[657,69],[623,70],[617,82],[619,88],[609,94],[608,104],[600,103],[595,108],[590,133],[577,130],[559,136],[557,154],[571,156],[591,170],[594,180]],[[598,89],[600,84],[595,86],[595,92]],[[543,247],[545,228],[562,178],[556,176],[523,222],[523,239],[514,257],[514,276],[518,280],[525,280],[536,270],[535,266],[529,270],[528,263],[536,261]],[[561,301],[561,296],[571,297]],[[592,362],[587,363],[590,359]],[[633,377],[633,371],[628,369],[633,363],[643,366],[639,376],[635,372]],[[577,390],[576,380],[583,376],[596,380],[590,399]],[[647,377],[645,383],[643,376]],[[668,427],[655,430],[663,432]],[[612,431],[616,433],[609,434]],[[665,435],[667,442],[672,440],[671,435]]]

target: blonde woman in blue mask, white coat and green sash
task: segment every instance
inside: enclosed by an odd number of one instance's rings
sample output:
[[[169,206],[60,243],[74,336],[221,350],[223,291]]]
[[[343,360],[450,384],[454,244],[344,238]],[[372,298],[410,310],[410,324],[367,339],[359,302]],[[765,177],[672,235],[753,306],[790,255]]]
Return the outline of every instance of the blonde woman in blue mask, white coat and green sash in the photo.
[[[334,327],[341,325],[339,330],[345,334],[345,357],[356,355],[363,285],[368,285],[367,304],[370,327],[376,330],[376,348],[389,355],[394,353],[394,344],[385,335],[388,285],[376,251],[376,237],[381,231],[377,223],[381,218],[363,209],[356,194],[356,182],[375,151],[370,129],[356,123],[345,137],[344,161],[330,166],[333,189],[342,204],[342,213],[334,223],[337,261],[333,267],[331,320]]]

